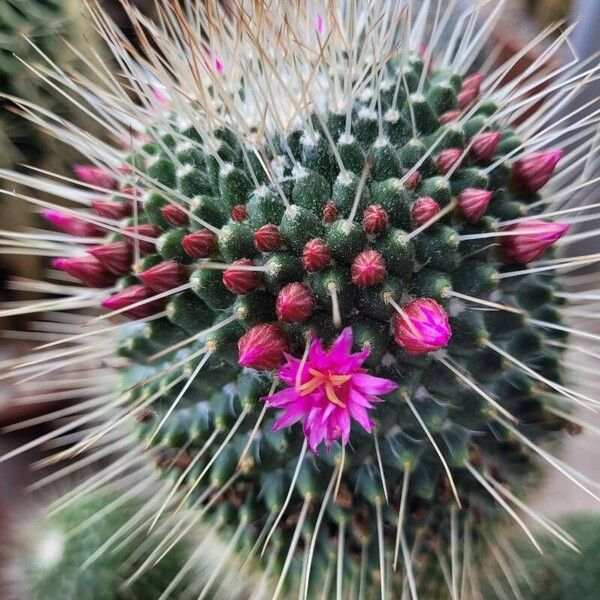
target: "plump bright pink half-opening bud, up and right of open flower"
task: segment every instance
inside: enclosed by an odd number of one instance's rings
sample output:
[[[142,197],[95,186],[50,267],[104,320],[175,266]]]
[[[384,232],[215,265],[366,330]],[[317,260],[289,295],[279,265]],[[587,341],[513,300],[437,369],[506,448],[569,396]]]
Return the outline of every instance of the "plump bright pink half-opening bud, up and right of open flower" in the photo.
[[[446,311],[432,298],[417,298],[394,317],[394,339],[407,354],[439,350],[451,335]]]

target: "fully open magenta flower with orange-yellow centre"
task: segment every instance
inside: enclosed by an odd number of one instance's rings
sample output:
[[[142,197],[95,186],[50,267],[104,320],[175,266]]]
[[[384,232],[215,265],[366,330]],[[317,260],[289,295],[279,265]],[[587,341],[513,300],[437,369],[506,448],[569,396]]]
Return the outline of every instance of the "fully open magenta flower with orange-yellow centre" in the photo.
[[[347,444],[352,419],[368,432],[373,429],[368,411],[382,401],[380,395],[398,386],[361,368],[368,349],[356,354],[351,349],[352,329],[347,327],[328,351],[313,338],[304,364],[286,354],[279,377],[288,387],[266,398],[268,406],[282,409],[273,431],[302,421],[308,446],[316,452],[321,442],[327,448],[339,438]]]

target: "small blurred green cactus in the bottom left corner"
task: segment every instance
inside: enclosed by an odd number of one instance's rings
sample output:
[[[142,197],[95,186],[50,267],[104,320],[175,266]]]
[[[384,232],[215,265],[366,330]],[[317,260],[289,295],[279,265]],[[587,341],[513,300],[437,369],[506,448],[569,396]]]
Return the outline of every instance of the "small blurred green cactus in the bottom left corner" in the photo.
[[[57,514],[34,518],[24,526],[26,532],[21,535],[19,552],[11,557],[18,573],[15,583],[21,589],[20,598],[158,600],[161,597],[191,552],[186,546],[188,541],[180,543],[164,562],[127,585],[127,579],[141,564],[141,561],[127,564],[140,543],[140,536],[116,549],[107,548],[94,560],[94,554],[106,540],[139,510],[134,501],[103,515],[105,507],[116,499],[108,490],[95,492],[65,506]],[[98,514],[101,518],[97,518]],[[89,526],[82,528],[85,523]],[[185,588],[185,583],[170,597],[179,597],[177,594]]]

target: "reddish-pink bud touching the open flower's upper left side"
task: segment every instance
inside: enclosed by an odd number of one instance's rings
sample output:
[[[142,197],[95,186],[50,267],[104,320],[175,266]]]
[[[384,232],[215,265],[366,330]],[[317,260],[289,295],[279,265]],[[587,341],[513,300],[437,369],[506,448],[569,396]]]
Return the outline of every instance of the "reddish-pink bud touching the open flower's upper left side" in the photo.
[[[238,341],[238,363],[242,367],[271,371],[283,362],[286,348],[285,338],[277,325],[255,325]]]

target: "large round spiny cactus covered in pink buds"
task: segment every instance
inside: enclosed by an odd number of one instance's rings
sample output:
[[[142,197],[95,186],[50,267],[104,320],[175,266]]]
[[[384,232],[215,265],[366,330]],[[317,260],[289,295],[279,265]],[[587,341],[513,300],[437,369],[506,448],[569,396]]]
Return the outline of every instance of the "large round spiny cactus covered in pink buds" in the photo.
[[[429,3],[192,5],[161,7],[177,31],[132,12],[142,66],[110,39],[139,102],[94,90],[95,114],[136,133],[82,134],[92,164],[56,193],[86,209],[45,212],[108,230],[53,266],[129,319],[106,330],[127,332],[120,403],[180,459],[158,461],[161,512],[222,530],[272,597],[476,597],[486,532],[513,519],[537,543],[515,507],[539,457],[563,469],[540,445],[568,405],[593,403],[563,356],[569,332],[598,338],[563,320],[559,275],[594,259],[555,248],[594,140],[548,144],[594,122],[548,128],[559,94],[512,124],[538,97],[510,65],[470,72],[498,10],[448,39],[439,3],[431,31]]]

